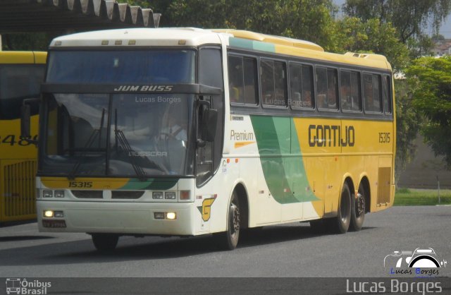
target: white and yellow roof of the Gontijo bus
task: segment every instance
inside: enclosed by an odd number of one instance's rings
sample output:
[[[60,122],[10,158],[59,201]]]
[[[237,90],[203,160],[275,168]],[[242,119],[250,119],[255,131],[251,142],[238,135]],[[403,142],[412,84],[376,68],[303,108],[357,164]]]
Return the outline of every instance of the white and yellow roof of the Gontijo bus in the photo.
[[[50,47],[141,47],[141,46],[192,46],[202,44],[221,44],[228,40],[226,45],[241,47],[276,54],[299,56],[306,59],[330,61],[338,64],[355,66],[368,66],[391,71],[391,66],[385,56],[380,54],[356,54],[347,52],[335,54],[324,52],[318,44],[288,37],[265,35],[245,30],[198,28],[130,28],[117,30],[102,30],[82,32],[66,35],[54,39]]]

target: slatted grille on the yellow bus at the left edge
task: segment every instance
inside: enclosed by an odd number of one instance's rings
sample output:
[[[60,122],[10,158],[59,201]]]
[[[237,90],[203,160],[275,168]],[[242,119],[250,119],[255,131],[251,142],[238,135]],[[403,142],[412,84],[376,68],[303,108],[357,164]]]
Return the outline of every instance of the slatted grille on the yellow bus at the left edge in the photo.
[[[31,217],[35,217],[35,176],[36,161],[25,161],[4,166],[4,216],[33,215]]]

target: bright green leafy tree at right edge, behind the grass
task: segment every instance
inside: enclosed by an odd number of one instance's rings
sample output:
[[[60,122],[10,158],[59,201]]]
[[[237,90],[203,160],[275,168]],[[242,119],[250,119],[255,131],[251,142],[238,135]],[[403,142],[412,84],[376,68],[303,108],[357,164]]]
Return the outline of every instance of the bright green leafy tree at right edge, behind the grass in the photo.
[[[426,118],[421,127],[435,155],[451,169],[451,56],[421,57],[406,71],[413,104]]]

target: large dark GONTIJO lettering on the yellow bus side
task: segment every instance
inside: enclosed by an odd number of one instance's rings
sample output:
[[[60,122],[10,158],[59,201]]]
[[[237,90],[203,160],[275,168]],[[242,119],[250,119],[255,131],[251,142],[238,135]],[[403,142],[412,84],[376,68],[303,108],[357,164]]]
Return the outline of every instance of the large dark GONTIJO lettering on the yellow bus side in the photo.
[[[314,147],[353,147],[355,144],[354,126],[309,125],[309,146]]]

